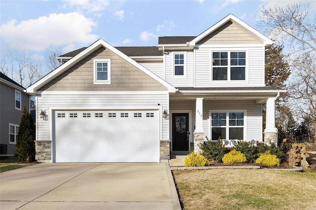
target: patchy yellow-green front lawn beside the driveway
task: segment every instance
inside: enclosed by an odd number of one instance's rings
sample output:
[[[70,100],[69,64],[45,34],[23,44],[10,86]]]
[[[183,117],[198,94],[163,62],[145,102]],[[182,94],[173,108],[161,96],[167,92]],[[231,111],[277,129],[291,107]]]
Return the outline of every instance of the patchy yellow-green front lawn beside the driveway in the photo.
[[[316,172],[213,169],[173,171],[185,210],[309,210]]]

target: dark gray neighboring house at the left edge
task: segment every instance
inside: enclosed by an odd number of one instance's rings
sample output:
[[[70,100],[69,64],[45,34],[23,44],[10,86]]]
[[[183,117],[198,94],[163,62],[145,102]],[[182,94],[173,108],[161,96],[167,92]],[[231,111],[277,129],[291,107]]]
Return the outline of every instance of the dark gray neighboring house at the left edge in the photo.
[[[16,154],[16,138],[23,107],[30,110],[30,97],[25,88],[0,72],[0,153]]]

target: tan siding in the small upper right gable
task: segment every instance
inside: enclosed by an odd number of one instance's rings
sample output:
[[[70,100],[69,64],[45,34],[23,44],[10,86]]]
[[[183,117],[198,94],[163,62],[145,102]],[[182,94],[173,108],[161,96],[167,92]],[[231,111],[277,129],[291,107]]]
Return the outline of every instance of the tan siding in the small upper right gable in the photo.
[[[262,44],[262,42],[236,24],[228,22],[197,44]]]

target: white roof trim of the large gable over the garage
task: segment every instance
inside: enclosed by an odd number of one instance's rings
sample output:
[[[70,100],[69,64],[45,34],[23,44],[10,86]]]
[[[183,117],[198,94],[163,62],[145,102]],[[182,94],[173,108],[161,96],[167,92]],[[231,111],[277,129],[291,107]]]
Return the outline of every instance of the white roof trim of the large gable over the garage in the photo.
[[[147,74],[148,76],[152,77],[158,83],[165,86],[169,92],[174,93],[176,91],[172,85],[170,85],[169,83],[167,83],[166,81],[164,81],[163,79],[158,77],[156,74],[154,74],[150,70],[147,70],[145,67],[138,64],[137,62],[135,62],[134,60],[129,58],[127,55],[125,55],[124,53],[122,53],[117,48],[113,47],[112,45],[110,45],[109,43],[104,41],[103,39],[99,39],[96,42],[94,42],[93,44],[91,44],[89,47],[82,50],[79,54],[74,56],[71,60],[69,60],[65,64],[61,65],[57,69],[53,70],[52,72],[48,73],[46,76],[41,78],[39,81],[37,81],[36,83],[31,85],[29,88],[27,88],[27,92],[35,94],[36,91],[39,90],[41,87],[43,87],[45,84],[47,84],[48,82],[50,82],[54,78],[58,77],[59,75],[61,75],[66,70],[69,70],[74,65],[79,63],[82,59],[84,59],[86,56],[90,55],[91,53],[93,53],[95,50],[99,49],[102,46],[109,49],[111,52],[113,52],[114,54],[116,54],[118,57],[125,60],[126,62],[128,62],[130,65],[136,67],[138,70],[140,70],[143,73]]]

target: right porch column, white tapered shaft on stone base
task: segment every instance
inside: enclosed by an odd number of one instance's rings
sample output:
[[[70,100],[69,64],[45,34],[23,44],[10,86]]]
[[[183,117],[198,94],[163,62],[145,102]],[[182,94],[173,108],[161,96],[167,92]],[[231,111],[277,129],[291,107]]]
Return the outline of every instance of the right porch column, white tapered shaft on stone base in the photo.
[[[277,145],[277,129],[275,122],[275,97],[270,97],[267,100],[266,108],[266,129],[264,130],[265,144],[275,143]]]

